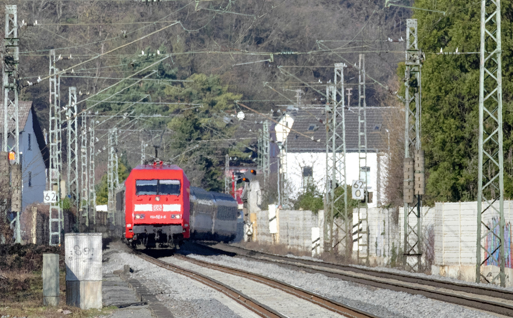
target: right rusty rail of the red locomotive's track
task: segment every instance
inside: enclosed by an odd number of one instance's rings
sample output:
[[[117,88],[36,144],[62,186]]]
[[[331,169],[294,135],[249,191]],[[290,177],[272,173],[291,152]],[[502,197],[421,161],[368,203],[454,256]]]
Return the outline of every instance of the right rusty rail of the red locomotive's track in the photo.
[[[297,286],[292,286],[287,283],[280,282],[280,281],[271,279],[266,276],[262,276],[262,275],[255,274],[255,273],[250,273],[250,272],[247,272],[247,271],[244,271],[241,269],[236,269],[236,268],[232,268],[232,267],[227,267],[227,266],[213,264],[213,263],[209,263],[209,262],[205,262],[205,261],[201,261],[201,260],[192,259],[191,257],[186,257],[186,256],[180,255],[180,254],[175,254],[174,257],[176,257],[178,259],[182,259],[182,260],[190,262],[190,263],[193,263],[193,264],[196,264],[196,265],[199,265],[199,266],[211,268],[214,270],[218,270],[218,271],[221,271],[224,273],[228,273],[228,274],[232,274],[232,275],[236,275],[236,276],[240,276],[240,277],[245,277],[245,278],[255,281],[257,283],[265,284],[269,287],[279,289],[279,290],[289,293],[293,296],[296,296],[300,299],[309,301],[315,305],[319,305],[321,307],[324,307],[328,310],[331,310],[333,312],[336,312],[336,313],[343,315],[345,317],[348,317],[348,318],[379,318],[379,316],[373,315],[369,312],[366,312],[366,311],[363,311],[363,310],[360,310],[360,309],[357,309],[357,308],[354,308],[354,307],[351,307],[348,305],[341,304],[337,301],[331,300],[331,299],[324,297],[320,294],[313,293],[313,292],[304,290],[302,288],[299,288]]]

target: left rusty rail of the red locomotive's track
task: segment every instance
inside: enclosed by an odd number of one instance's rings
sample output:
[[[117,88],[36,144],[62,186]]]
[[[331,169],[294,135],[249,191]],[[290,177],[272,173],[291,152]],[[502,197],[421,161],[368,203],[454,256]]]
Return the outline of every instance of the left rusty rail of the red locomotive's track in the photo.
[[[238,290],[235,290],[235,289],[231,288],[230,286],[227,286],[219,281],[211,279],[210,277],[207,277],[203,274],[182,268],[180,266],[176,266],[173,264],[159,261],[159,260],[155,259],[154,257],[148,256],[145,254],[141,254],[141,253],[136,253],[136,254],[141,259],[143,259],[151,264],[154,264],[154,265],[162,267],[164,269],[173,271],[175,273],[182,274],[184,276],[189,277],[190,279],[198,281],[204,285],[207,285],[208,287],[211,287],[217,291],[222,292],[223,294],[227,295],[234,301],[238,302],[239,304],[243,305],[244,307],[248,308],[249,310],[253,311],[254,313],[258,314],[261,317],[288,318],[287,316],[284,316],[283,314],[279,313],[278,311],[276,311],[264,304],[261,304],[258,301],[253,300],[252,298],[246,296],[244,293],[242,293]]]

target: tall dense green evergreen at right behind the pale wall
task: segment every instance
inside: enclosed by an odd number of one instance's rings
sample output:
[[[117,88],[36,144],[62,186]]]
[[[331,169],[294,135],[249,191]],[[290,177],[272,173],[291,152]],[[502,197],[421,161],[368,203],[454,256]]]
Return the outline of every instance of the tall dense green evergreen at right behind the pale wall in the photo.
[[[414,10],[419,47],[426,52],[422,66],[422,146],[426,151],[426,202],[476,200],[478,174],[480,2],[419,0],[415,6],[446,11]],[[504,188],[513,195],[513,4],[502,1],[502,67],[504,109]],[[398,69],[404,76],[404,64]],[[404,90],[404,86],[403,86]]]

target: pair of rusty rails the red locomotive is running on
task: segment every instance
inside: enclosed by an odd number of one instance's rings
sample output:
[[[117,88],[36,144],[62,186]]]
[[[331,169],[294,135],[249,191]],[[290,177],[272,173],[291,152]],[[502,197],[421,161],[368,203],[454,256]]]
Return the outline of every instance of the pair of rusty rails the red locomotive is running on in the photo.
[[[215,290],[218,290],[222,292],[223,294],[230,297],[232,300],[238,302],[239,304],[243,305],[244,307],[248,308],[249,310],[257,313],[258,315],[262,317],[269,317],[269,318],[288,318],[287,315],[284,315],[280,313],[278,310],[275,310],[271,308],[270,306],[264,305],[263,303],[255,300],[250,295],[246,295],[245,293],[234,289],[233,287],[230,287],[228,284],[224,284],[219,280],[216,280],[211,275],[200,273],[199,271],[193,271],[190,269],[186,269],[181,266],[177,266],[171,263],[167,263],[161,260],[157,260],[154,257],[137,253],[139,257],[141,257],[143,260],[150,262],[156,266],[159,266],[161,268],[171,270],[175,273],[179,273],[182,275],[185,275],[187,277],[190,277],[191,279],[198,281],[202,284],[205,284]],[[202,268],[205,268],[205,271],[207,269],[215,270],[218,272],[223,273],[224,275],[235,275],[237,277],[243,277],[239,278],[238,280],[243,279],[249,279],[253,282],[264,284],[268,287],[278,289],[281,292],[286,292],[294,297],[297,297],[298,299],[301,299],[304,302],[310,302],[314,305],[318,305],[320,307],[323,307],[329,311],[332,311],[333,313],[342,315],[344,317],[348,318],[379,318],[376,315],[370,314],[368,312],[359,310],[357,308],[353,308],[341,303],[338,303],[336,301],[333,301],[331,299],[328,299],[327,297],[324,297],[322,295],[306,291],[304,289],[301,289],[299,287],[295,287],[283,282],[279,282],[273,279],[270,279],[269,277],[261,276],[258,274],[249,273],[243,270],[234,269],[230,267],[220,266],[216,264],[211,264],[208,262],[203,262],[200,260],[194,260],[190,257],[185,257],[182,255],[175,255],[173,256],[176,260],[180,260],[182,262],[189,262],[198,266],[201,266]],[[317,307],[318,308],[318,307]],[[319,308],[321,309],[321,308]]]

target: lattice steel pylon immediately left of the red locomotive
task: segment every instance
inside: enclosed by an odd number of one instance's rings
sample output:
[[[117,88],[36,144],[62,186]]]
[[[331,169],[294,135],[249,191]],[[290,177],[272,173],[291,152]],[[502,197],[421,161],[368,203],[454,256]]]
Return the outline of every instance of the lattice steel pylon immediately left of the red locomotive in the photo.
[[[119,175],[117,171],[117,128],[109,129],[108,136],[108,161],[107,161],[107,215],[112,217],[112,224],[115,225],[115,206],[114,195],[117,186],[119,186]]]

